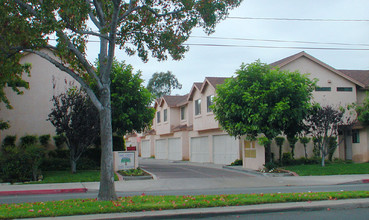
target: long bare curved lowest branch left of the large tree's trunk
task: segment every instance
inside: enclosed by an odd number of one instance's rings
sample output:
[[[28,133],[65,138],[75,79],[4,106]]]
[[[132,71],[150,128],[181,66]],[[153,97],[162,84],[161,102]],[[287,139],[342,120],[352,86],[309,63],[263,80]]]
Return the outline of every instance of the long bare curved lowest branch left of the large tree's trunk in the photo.
[[[34,53],[34,54],[36,54],[36,55],[44,58],[45,60],[49,61],[50,63],[54,64],[54,66],[56,66],[61,71],[68,73],[71,77],[73,77],[73,79],[75,79],[77,82],[79,82],[81,84],[82,88],[86,91],[86,93],[90,97],[92,103],[94,103],[94,105],[96,106],[96,108],[99,111],[103,109],[103,107],[102,107],[99,99],[96,97],[96,95],[92,91],[92,89],[75,72],[73,72],[68,67],[66,67],[65,65],[63,65],[62,63],[60,63],[59,61],[55,60],[54,58],[52,58],[51,56],[49,56],[48,54],[46,54],[44,52],[35,51],[35,50],[31,50],[31,49],[25,49],[24,51],[25,52],[29,52],[29,53]]]

